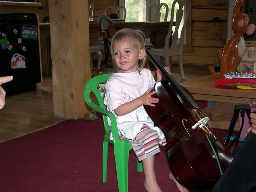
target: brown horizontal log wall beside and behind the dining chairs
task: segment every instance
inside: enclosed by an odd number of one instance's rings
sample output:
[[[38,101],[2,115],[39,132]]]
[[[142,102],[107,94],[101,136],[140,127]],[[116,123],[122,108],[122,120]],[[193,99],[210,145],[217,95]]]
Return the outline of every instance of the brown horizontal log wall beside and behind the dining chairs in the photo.
[[[228,0],[190,0],[191,9],[191,42],[192,47],[184,48],[184,68],[208,70],[211,65],[219,66],[218,52],[227,41]],[[97,21],[106,6],[118,5],[118,0],[88,0],[94,4],[93,20]],[[219,22],[213,22],[219,18]],[[95,34],[90,38],[98,38]],[[170,57],[172,63],[178,63],[178,56]]]

